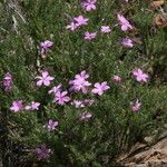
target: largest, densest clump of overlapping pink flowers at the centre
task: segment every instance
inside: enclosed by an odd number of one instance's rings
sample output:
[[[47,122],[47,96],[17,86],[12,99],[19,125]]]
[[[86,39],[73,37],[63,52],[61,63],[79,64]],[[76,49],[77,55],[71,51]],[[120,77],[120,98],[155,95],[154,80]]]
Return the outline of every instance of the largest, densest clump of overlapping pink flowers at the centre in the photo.
[[[91,86],[87,79],[89,78],[89,75],[84,70],[79,75],[75,76],[73,80],[69,81],[70,91],[81,91],[84,94],[87,94],[88,87]]]

